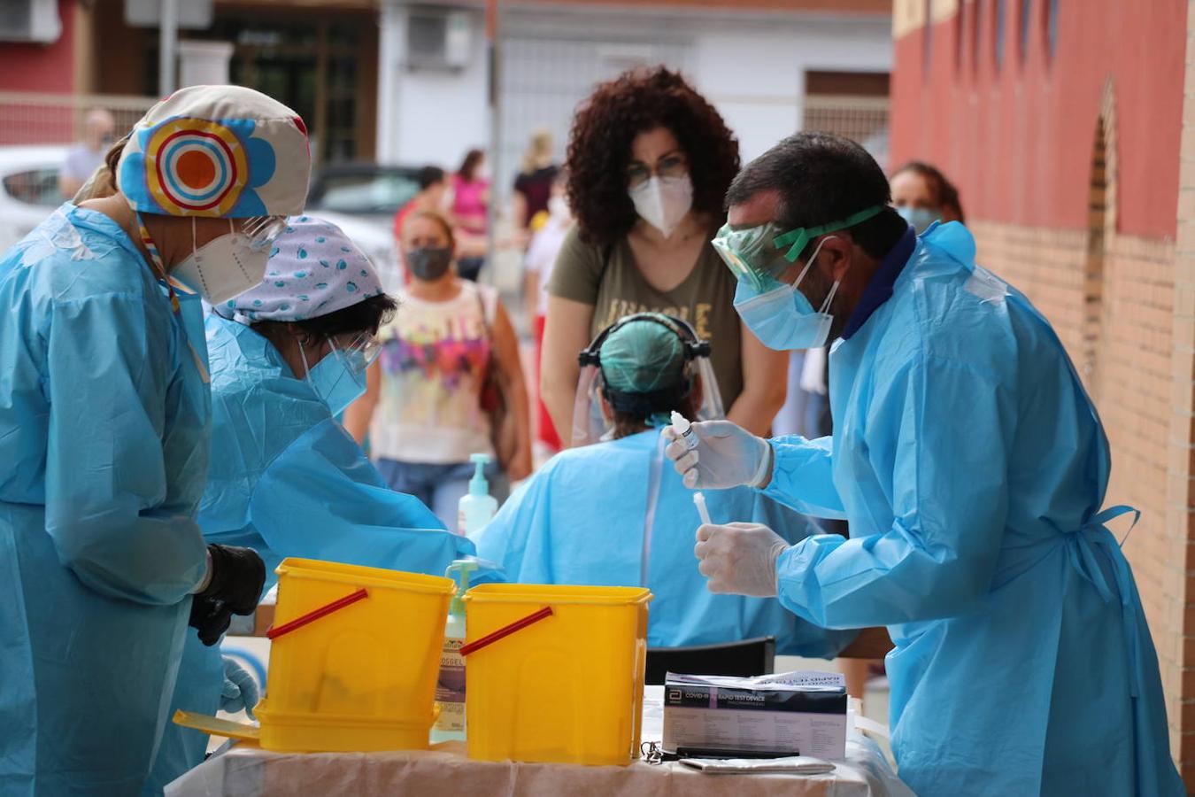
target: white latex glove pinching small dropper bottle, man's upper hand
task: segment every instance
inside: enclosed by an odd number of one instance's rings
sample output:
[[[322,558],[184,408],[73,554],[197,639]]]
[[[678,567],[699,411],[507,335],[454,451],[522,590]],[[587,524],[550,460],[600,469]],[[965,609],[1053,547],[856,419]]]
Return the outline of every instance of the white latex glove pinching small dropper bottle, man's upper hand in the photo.
[[[691,490],[725,490],[742,484],[760,486],[772,468],[772,447],[729,421],[693,424],[697,447],[688,448],[672,427],[664,427],[664,455]]]

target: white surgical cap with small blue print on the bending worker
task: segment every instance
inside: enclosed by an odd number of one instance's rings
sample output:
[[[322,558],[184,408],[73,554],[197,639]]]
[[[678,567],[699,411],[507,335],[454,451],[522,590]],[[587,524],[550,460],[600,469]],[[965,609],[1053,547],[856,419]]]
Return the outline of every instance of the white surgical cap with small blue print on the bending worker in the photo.
[[[369,258],[339,227],[315,216],[294,216],[270,250],[262,283],[215,311],[241,324],[304,321],[381,293]]]

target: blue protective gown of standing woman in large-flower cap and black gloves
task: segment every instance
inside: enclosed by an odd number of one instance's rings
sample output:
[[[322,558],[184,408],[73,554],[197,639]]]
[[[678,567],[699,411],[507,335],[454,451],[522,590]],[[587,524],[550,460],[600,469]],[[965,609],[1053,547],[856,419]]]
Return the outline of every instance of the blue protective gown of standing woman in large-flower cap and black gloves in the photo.
[[[69,204],[0,259],[2,795],[135,795],[149,773],[206,566],[210,405],[180,299]]]

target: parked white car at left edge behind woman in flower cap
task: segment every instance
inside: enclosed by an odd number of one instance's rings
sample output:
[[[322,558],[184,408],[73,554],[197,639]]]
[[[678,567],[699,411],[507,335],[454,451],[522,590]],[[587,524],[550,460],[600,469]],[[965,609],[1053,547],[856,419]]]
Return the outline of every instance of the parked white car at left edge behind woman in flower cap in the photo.
[[[67,147],[0,147],[0,252],[62,204],[59,170]]]

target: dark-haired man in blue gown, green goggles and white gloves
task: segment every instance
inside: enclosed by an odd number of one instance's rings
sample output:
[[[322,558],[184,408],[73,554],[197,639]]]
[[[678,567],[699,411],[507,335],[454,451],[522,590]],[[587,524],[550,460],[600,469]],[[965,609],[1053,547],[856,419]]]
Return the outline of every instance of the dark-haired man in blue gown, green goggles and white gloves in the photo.
[[[921,797],[1183,793],[1108,528],[1132,510],[1104,504],[1108,440],[1050,325],[975,264],[962,225],[917,238],[845,139],[782,141],[727,200],[716,247],[743,321],[776,349],[838,338],[834,434],[697,424],[700,445],[668,455],[690,485],[753,484],[851,537],[703,526],[710,589],[887,625],[893,750]]]

